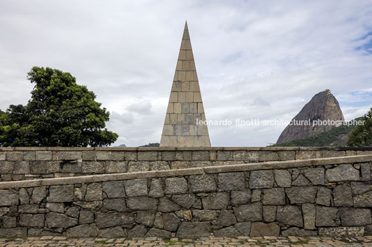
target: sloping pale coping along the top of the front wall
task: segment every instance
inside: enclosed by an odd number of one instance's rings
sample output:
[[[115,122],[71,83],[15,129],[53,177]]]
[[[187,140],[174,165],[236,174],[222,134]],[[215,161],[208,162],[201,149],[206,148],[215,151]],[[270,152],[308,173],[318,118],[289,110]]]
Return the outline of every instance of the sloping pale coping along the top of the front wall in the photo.
[[[212,174],[219,172],[245,172],[252,170],[271,170],[287,169],[294,167],[310,167],[321,165],[338,165],[346,163],[364,163],[371,162],[372,155],[343,156],[335,158],[314,158],[309,160],[298,161],[270,161],[263,163],[248,163],[241,165],[222,165],[212,167],[198,167],[179,170],[162,170],[150,172],[130,172],[119,174],[101,174],[90,176],[73,176],[56,179],[35,179],[24,181],[0,182],[0,189],[18,188],[18,187],[37,187],[45,185],[66,185],[74,183],[94,183],[103,181],[116,181],[128,179],[146,179],[167,176],[188,176],[197,174]]]

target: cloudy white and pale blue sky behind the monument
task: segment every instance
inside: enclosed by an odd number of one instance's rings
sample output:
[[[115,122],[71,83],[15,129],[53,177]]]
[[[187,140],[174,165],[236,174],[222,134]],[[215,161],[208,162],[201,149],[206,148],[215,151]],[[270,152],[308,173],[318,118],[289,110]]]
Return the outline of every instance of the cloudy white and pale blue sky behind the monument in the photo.
[[[0,109],[26,73],[71,73],[110,111],[114,145],[160,142],[185,25],[207,120],[291,120],[330,89],[346,120],[372,107],[372,1],[0,0]],[[285,126],[210,126],[212,146],[266,146]]]

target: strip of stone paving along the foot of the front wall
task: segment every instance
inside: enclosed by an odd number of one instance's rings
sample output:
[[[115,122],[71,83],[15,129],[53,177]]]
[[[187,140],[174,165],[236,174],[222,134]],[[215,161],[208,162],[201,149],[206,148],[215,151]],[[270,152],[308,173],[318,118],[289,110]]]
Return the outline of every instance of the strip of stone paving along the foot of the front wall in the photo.
[[[290,246],[290,247],[332,247],[372,246],[372,236],[365,237],[205,237],[201,239],[98,239],[66,237],[0,238],[0,246]]]

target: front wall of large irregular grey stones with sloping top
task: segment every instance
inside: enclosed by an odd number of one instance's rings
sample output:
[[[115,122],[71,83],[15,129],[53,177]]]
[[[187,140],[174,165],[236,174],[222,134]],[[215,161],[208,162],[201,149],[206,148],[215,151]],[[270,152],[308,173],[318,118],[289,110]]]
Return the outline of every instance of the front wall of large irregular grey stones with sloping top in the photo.
[[[371,234],[371,161],[348,156],[1,182],[0,236]]]

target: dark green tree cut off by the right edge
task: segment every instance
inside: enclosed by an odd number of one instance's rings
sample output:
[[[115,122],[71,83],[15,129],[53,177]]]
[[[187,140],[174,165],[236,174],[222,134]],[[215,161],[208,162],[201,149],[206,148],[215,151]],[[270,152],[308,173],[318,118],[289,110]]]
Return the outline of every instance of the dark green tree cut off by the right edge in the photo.
[[[372,108],[360,120],[364,120],[364,124],[358,125],[350,132],[348,136],[348,146],[372,146]]]

